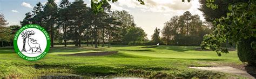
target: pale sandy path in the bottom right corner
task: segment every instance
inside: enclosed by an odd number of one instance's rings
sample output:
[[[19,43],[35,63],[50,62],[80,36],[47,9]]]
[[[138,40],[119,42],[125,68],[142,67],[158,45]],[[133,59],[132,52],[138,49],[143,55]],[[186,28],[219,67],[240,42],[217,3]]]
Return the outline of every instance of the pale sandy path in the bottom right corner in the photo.
[[[195,68],[195,69],[201,69],[201,70],[213,70],[213,71],[217,71],[217,72],[230,73],[230,74],[244,76],[244,77],[248,77],[248,78],[255,78],[254,75],[251,75],[251,73],[247,73],[244,70],[240,70],[240,69],[233,68],[233,67],[230,67],[230,66],[188,67],[188,68]]]

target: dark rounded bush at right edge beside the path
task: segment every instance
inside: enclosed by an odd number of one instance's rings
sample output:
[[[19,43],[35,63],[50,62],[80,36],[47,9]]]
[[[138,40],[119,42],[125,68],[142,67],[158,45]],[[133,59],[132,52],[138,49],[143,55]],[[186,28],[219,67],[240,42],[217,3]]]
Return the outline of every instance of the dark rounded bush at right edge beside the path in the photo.
[[[242,39],[237,45],[239,59],[253,66],[256,66],[256,50],[252,48],[251,43],[255,40],[255,38]]]

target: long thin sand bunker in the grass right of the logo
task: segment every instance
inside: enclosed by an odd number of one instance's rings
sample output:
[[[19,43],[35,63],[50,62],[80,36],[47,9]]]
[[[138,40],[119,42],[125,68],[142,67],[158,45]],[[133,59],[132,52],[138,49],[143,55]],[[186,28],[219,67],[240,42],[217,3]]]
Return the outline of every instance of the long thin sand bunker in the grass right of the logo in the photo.
[[[60,56],[107,56],[118,51],[104,51],[104,52],[87,52],[87,53],[75,53],[75,54],[59,54]]]

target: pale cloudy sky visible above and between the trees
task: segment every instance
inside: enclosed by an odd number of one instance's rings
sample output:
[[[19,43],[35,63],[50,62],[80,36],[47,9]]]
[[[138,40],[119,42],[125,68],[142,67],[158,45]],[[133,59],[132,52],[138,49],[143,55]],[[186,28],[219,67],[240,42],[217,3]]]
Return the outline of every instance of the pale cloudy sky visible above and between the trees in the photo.
[[[47,0],[0,0],[0,11],[4,14],[9,25],[20,25],[26,12],[31,12],[36,3],[46,3]],[[57,4],[61,0],[55,0]],[[75,0],[70,0],[74,2]],[[90,0],[83,0],[90,6]],[[151,39],[154,29],[163,29],[164,23],[169,21],[174,15],[182,15],[185,11],[190,11],[193,15],[198,14],[200,19],[205,21],[203,13],[198,10],[199,0],[192,0],[190,3],[181,0],[144,0],[145,5],[139,4],[137,0],[118,0],[111,4],[112,10],[125,10],[133,15],[137,27],[144,29],[147,37]]]

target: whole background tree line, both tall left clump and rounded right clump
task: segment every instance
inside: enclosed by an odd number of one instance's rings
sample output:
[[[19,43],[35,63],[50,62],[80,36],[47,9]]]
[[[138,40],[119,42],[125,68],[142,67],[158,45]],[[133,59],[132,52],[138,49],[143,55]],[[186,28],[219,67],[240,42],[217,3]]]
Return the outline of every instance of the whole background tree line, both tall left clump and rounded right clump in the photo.
[[[51,47],[55,43],[75,44],[81,46],[105,46],[107,43],[143,45],[200,45],[203,36],[210,33],[211,25],[204,25],[199,15],[186,11],[183,15],[174,16],[165,22],[164,28],[156,28],[152,41],[147,39],[145,31],[136,27],[133,16],[127,11],[112,11],[107,1],[102,1],[103,10],[95,14],[83,1],[70,3],[68,0],[57,5],[53,0],[43,5],[38,2],[31,12],[25,13],[21,25],[37,24],[48,30]],[[10,38],[12,39],[12,38]],[[5,41],[11,43],[11,41]],[[2,42],[3,43],[3,42]]]

